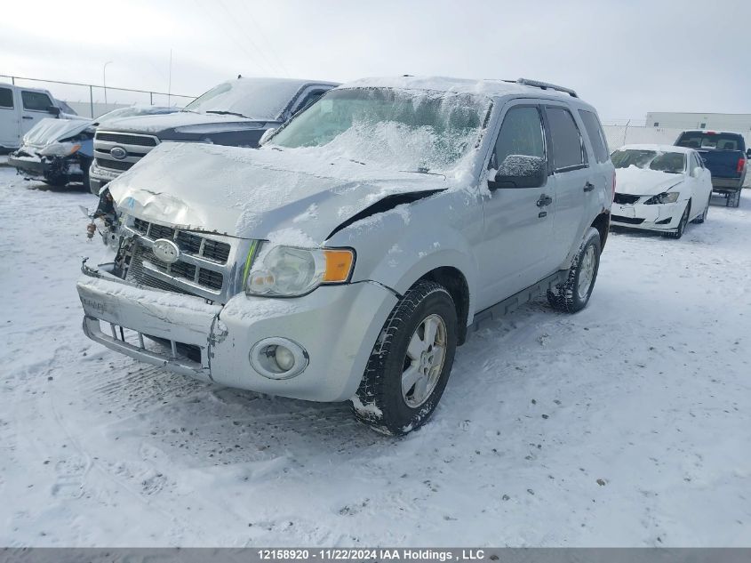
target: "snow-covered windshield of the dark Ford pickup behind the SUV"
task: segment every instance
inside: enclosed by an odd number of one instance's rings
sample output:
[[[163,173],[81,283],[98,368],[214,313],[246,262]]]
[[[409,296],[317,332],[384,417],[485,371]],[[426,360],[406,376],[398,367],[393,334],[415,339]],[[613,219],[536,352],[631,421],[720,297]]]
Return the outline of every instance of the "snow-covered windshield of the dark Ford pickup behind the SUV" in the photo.
[[[212,88],[185,110],[276,121],[302,85],[296,80],[240,78]]]

